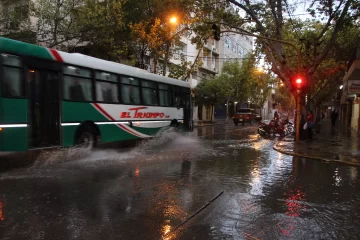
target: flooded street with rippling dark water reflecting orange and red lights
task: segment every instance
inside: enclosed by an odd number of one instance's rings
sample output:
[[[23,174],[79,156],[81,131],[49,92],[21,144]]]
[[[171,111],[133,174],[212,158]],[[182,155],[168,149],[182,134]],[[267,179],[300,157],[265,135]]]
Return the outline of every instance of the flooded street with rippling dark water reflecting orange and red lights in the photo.
[[[359,169],[275,141],[229,124],[48,152],[0,174],[0,239],[359,239]]]

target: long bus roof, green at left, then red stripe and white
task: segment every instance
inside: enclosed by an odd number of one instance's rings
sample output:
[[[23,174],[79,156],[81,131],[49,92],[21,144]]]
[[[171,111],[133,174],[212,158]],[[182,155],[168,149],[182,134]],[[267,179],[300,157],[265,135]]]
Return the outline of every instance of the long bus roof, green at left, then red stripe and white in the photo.
[[[117,74],[124,74],[146,80],[190,88],[189,82],[149,73],[146,70],[140,68],[131,67],[121,63],[110,62],[103,59],[83,55],[80,53],[66,53],[54,49],[48,49],[45,47],[24,43],[8,38],[0,37],[0,51],[6,53],[18,54],[18,55],[40,57],[48,60],[57,60],[67,64],[73,64],[73,65],[92,68],[96,70],[103,70]]]

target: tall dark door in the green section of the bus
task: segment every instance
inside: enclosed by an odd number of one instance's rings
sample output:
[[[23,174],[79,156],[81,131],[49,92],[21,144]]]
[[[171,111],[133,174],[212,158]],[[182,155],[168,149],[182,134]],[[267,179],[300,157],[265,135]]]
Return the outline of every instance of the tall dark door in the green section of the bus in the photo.
[[[60,145],[60,71],[46,66],[28,65],[29,148]]]

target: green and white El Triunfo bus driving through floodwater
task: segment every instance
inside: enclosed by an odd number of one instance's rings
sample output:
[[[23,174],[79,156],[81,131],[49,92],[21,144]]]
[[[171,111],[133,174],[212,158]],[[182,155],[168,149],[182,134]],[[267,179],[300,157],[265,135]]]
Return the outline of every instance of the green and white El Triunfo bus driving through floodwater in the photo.
[[[193,128],[189,83],[142,69],[0,38],[0,76],[1,152]]]

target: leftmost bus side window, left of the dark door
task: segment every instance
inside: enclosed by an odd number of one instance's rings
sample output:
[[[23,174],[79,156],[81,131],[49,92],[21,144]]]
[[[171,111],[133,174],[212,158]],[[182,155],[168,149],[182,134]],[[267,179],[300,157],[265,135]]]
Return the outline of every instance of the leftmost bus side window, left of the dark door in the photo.
[[[23,97],[24,82],[21,59],[14,55],[1,54],[3,61],[2,96]]]

